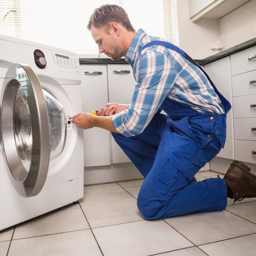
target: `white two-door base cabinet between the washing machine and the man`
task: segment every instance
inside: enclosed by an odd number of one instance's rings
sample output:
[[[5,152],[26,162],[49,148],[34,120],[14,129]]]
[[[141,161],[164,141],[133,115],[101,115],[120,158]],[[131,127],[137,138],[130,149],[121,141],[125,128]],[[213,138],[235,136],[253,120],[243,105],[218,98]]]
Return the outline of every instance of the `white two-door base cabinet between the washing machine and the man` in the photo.
[[[82,110],[91,113],[108,102],[129,104],[135,79],[130,65],[80,65]],[[84,166],[131,162],[110,132],[84,130]]]

